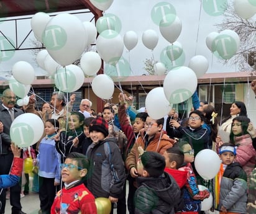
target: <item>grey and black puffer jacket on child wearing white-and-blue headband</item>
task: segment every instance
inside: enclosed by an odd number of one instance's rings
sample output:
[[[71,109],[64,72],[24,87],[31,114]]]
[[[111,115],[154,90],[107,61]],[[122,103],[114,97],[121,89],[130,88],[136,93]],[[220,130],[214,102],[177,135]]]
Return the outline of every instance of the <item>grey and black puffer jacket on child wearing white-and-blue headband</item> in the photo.
[[[228,212],[246,213],[247,176],[239,163],[228,165],[221,179],[219,206]]]

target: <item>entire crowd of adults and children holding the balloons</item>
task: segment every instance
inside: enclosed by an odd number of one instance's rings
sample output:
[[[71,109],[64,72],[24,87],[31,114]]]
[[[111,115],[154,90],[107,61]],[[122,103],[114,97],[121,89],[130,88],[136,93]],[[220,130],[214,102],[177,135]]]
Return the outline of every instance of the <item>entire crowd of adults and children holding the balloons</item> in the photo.
[[[256,80],[251,88],[256,95]],[[0,214],[5,213],[7,187],[11,213],[25,214],[21,193],[29,191],[19,182],[22,153],[9,135],[12,121],[26,112],[45,124],[42,138],[23,149],[38,169],[33,189],[39,192],[39,214],[96,214],[95,198],[101,197],[109,198],[111,214],[114,208],[117,214],[199,214],[211,194],[211,210],[256,213],[256,130],[244,102],[235,101],[230,116],[219,123],[213,105],[200,102],[196,92],[193,110],[182,119],[172,109],[155,120],[146,111],[137,112],[132,97],[120,93],[118,99],[118,105],[107,103],[97,115],[90,100],[82,99],[75,111],[74,94],[66,102],[62,92],[53,92],[40,110],[35,95],[21,110],[6,89],[0,105]],[[211,181],[194,165],[203,149],[213,149],[222,161]],[[199,190],[199,184],[208,189]]]

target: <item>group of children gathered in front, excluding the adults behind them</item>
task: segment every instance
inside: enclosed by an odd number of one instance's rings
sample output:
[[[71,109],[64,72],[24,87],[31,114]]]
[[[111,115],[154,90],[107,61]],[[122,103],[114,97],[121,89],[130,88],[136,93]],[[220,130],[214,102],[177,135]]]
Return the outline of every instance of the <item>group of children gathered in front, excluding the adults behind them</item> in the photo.
[[[131,125],[125,100],[120,94],[118,119],[127,136],[124,147],[117,143],[116,135],[109,136],[112,118],[107,113],[105,120],[85,119],[80,112],[71,112],[68,131],[60,133],[57,120],[46,120],[46,135],[34,160],[39,167],[40,213],[97,213],[97,197],[109,198],[112,213],[114,203],[117,208],[122,199],[125,203],[126,179],[130,214],[201,212],[201,201],[210,192],[198,189],[193,162],[195,154],[209,148],[208,132],[201,127],[203,114],[198,110],[190,113],[190,128],[171,120],[175,128],[166,133],[163,118],[153,120],[145,112],[137,114]],[[104,110],[111,111],[109,107]],[[114,125],[111,128],[116,132]],[[213,182],[214,208],[221,213],[246,213],[249,174],[234,160],[242,158],[241,145],[247,138],[251,140],[245,144],[251,146],[255,158],[256,132],[245,118],[236,118],[231,133],[231,143],[220,143],[218,148],[222,164]]]

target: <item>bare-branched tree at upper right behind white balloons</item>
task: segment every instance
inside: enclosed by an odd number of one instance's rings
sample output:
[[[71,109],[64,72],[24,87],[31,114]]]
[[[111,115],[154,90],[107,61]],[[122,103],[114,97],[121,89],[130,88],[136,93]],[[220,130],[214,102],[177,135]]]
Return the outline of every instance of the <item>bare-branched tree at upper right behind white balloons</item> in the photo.
[[[216,24],[217,29],[234,30],[240,38],[240,47],[237,53],[230,60],[221,60],[222,63],[238,66],[240,71],[247,71],[256,74],[256,22],[255,20],[245,20],[239,17],[233,5],[229,5],[223,14],[224,20],[221,24]]]

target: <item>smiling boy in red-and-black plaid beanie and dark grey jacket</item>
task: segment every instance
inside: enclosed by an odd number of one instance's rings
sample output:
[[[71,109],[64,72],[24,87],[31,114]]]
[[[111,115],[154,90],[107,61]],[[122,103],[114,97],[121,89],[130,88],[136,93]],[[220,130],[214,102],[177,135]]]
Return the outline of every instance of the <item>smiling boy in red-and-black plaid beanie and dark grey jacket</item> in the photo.
[[[87,150],[90,161],[87,187],[94,197],[109,198],[111,203],[116,203],[126,181],[124,162],[116,138],[107,138],[107,122],[99,116],[89,125],[89,133],[93,143]],[[113,206],[111,213],[112,209]]]

